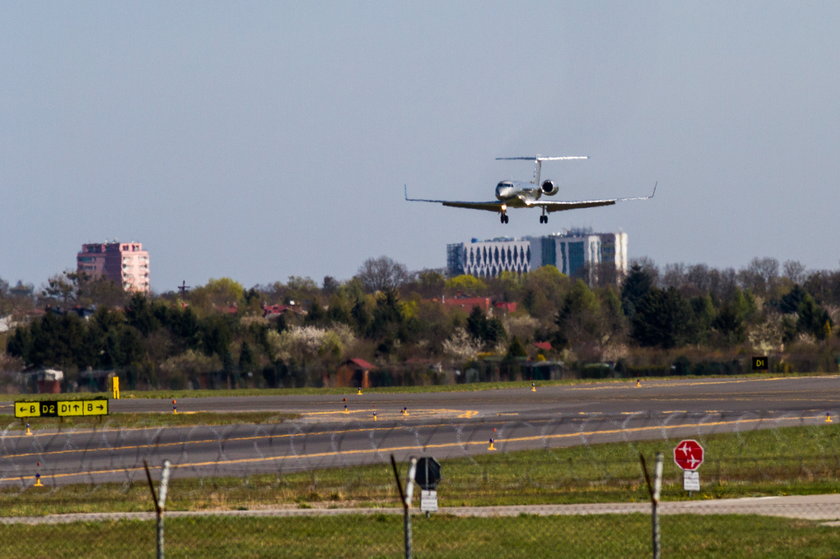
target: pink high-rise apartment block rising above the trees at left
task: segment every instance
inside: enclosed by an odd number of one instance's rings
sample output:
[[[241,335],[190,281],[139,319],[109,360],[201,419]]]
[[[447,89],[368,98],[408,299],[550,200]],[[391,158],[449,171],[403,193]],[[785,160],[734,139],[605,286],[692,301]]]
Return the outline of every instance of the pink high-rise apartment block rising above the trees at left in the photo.
[[[148,293],[149,253],[142,243],[88,243],[76,255],[76,270],[106,277],[125,291]]]

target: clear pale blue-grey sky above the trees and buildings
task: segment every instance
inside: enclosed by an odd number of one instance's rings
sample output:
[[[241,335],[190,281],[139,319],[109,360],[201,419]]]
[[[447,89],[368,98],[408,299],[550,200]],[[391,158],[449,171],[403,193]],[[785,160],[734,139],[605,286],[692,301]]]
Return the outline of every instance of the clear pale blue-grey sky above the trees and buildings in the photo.
[[[152,288],[344,280],[370,257],[625,231],[631,258],[840,264],[840,3],[4,2],[0,278],[140,241]],[[492,199],[546,163],[552,214]]]

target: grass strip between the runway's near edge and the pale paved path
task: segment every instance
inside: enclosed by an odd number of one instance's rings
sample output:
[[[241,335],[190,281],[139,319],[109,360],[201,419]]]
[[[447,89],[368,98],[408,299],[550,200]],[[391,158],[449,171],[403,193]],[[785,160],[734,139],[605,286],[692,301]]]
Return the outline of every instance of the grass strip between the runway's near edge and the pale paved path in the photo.
[[[840,424],[697,437],[706,450],[697,499],[834,493],[840,488]],[[644,502],[639,453],[649,467],[665,455],[663,499],[688,496],[671,456],[677,440],[600,444],[442,460],[442,506]],[[750,458],[746,458],[750,457]],[[403,476],[405,464],[402,465]],[[244,478],[179,478],[170,510],[397,506],[390,464]],[[150,510],[148,487],[134,484],[6,488],[0,515]]]

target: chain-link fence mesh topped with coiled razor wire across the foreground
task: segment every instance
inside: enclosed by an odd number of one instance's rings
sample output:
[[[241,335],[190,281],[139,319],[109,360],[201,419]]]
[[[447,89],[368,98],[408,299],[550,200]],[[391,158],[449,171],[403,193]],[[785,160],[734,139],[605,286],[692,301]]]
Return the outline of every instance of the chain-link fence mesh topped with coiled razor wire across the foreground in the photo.
[[[706,452],[692,494],[685,437]],[[837,558],[839,442],[820,414],[6,430],[0,557],[155,557],[147,459],[157,498],[172,462],[166,557],[654,557],[640,455],[662,453],[659,556]],[[410,550],[391,455],[403,488],[410,456],[442,465],[436,512],[414,492]]]

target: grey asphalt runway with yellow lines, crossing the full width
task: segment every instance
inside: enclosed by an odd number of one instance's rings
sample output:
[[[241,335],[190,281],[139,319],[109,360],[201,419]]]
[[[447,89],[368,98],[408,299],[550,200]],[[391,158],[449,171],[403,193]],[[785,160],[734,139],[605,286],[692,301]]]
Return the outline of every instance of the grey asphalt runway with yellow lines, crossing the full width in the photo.
[[[345,396],[185,398],[179,413],[276,411],[276,424],[9,431],[0,484],[129,482],[143,461],[174,476],[243,476],[351,467],[433,453],[439,459],[613,441],[697,437],[825,423],[840,413],[840,377],[645,380],[529,389]],[[346,411],[345,411],[345,407]],[[3,411],[11,414],[9,407]],[[111,413],[171,413],[168,400],[112,400]],[[374,412],[376,417],[374,418]]]

